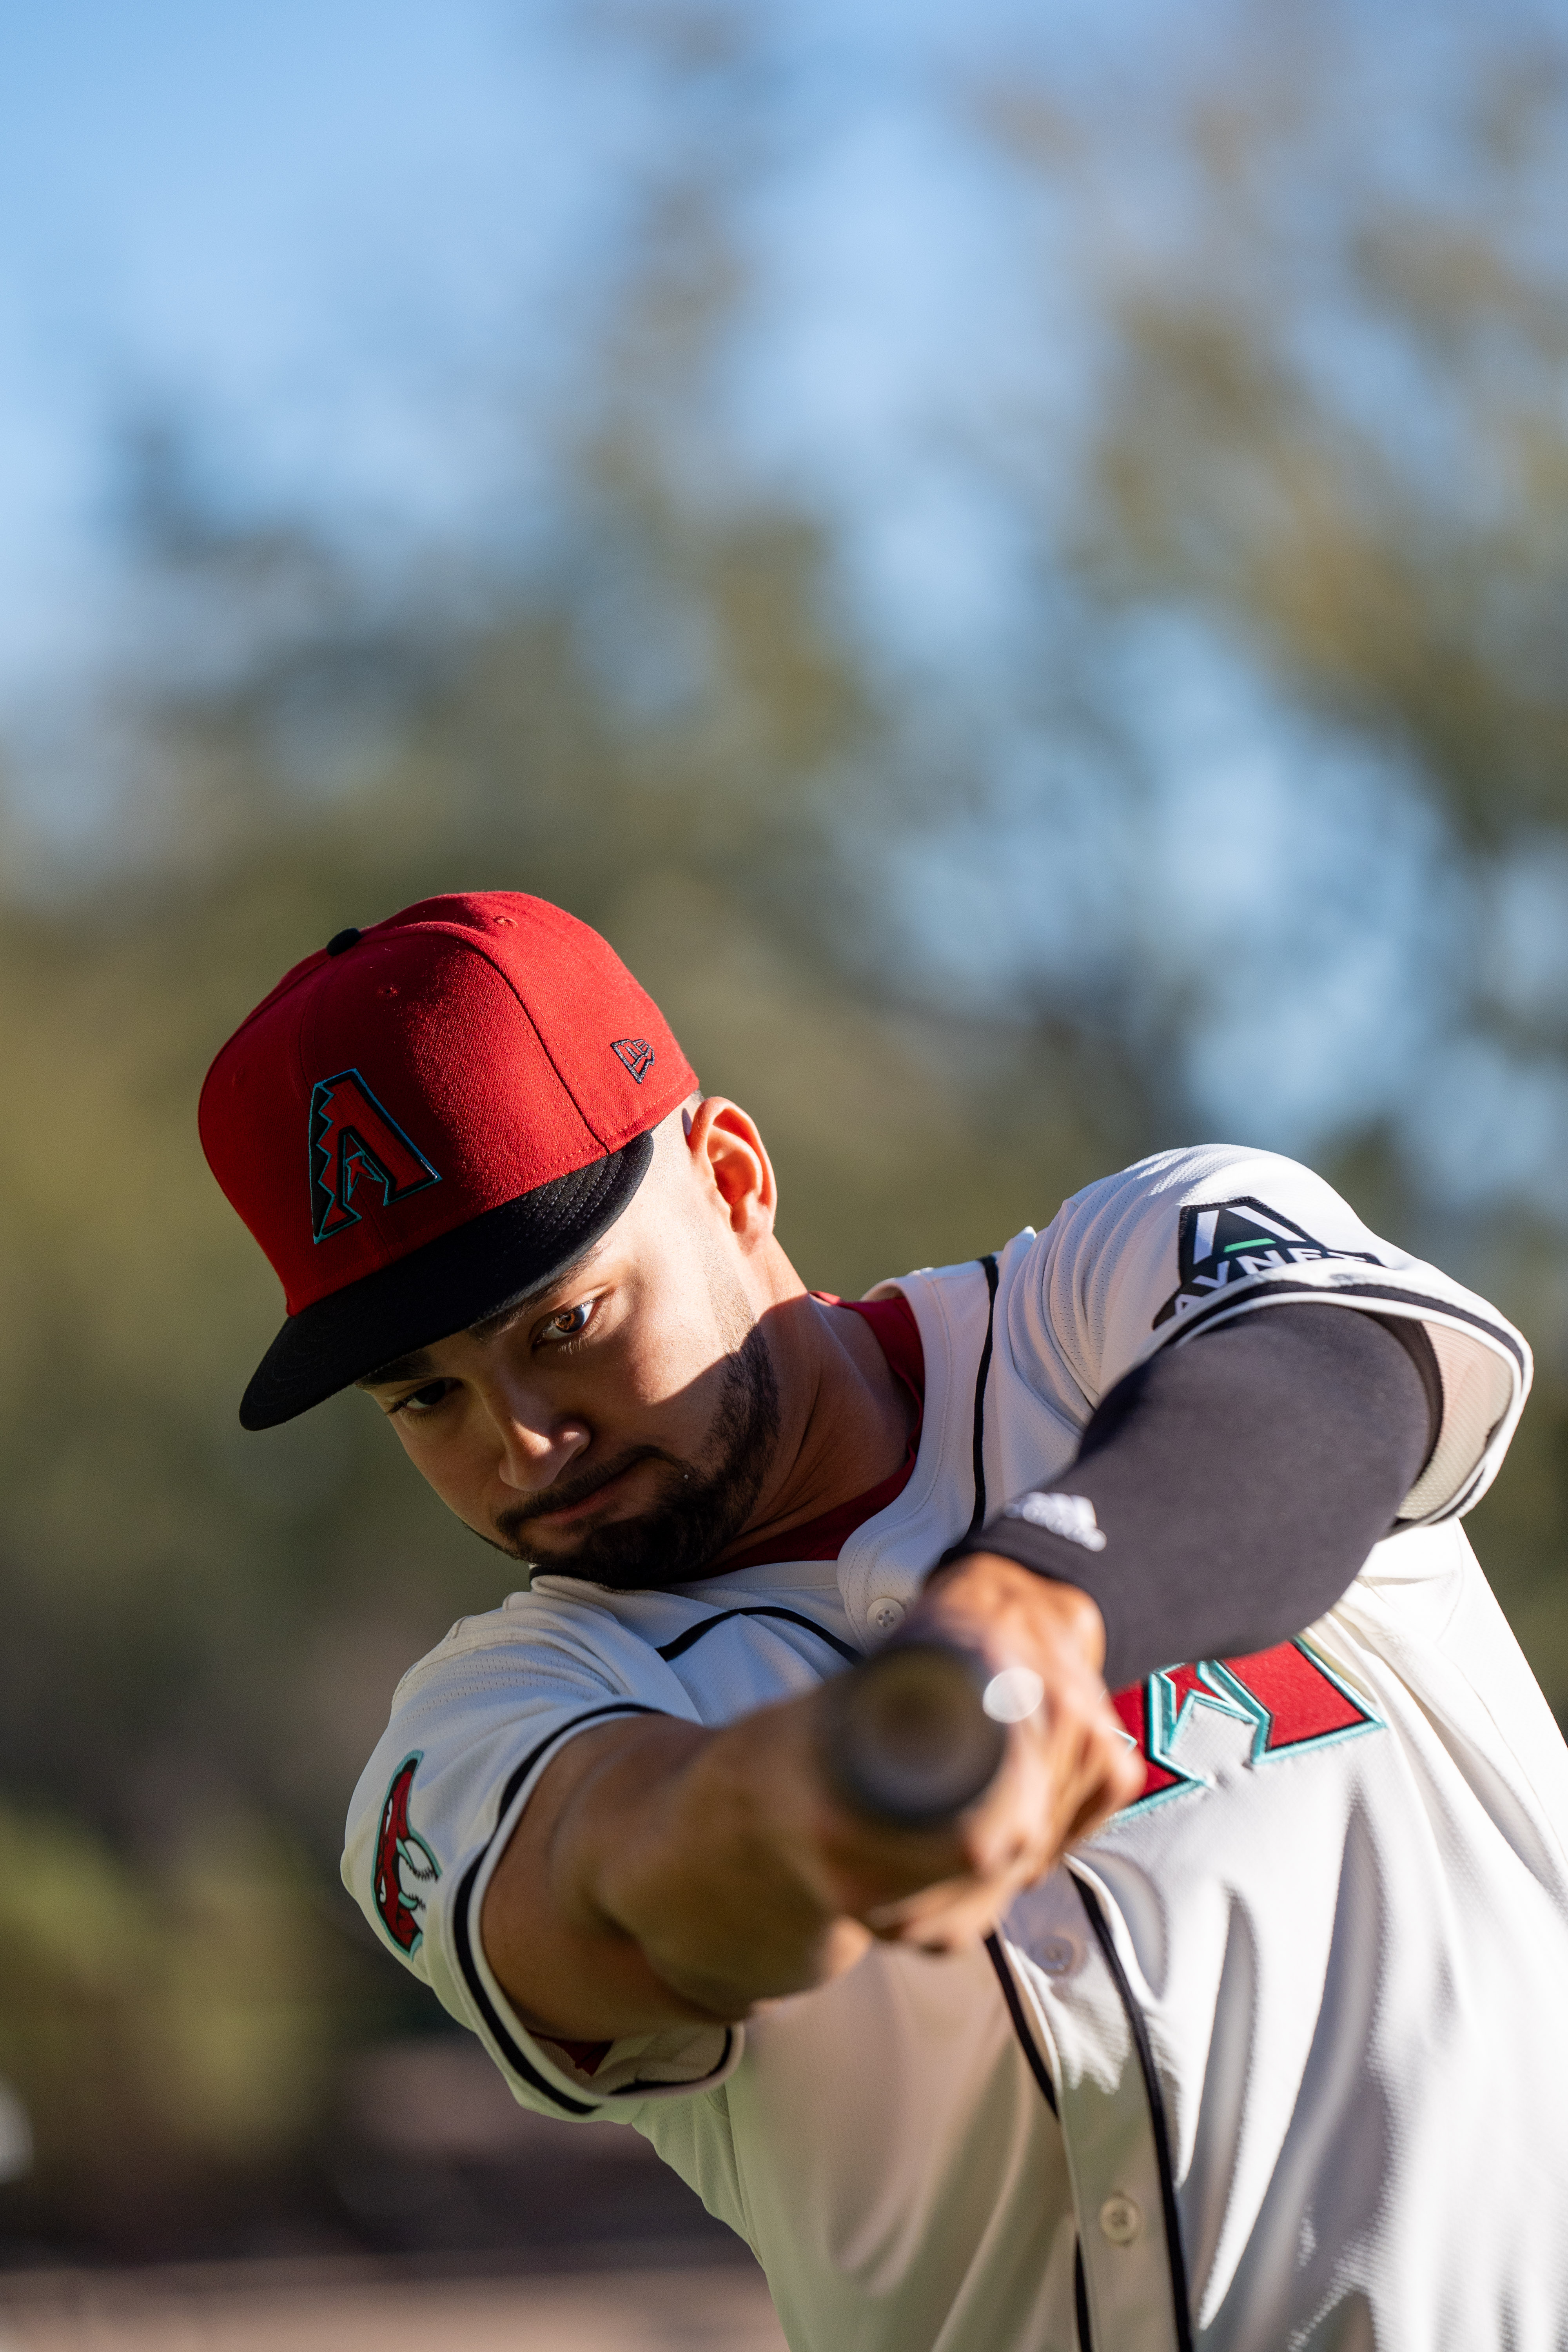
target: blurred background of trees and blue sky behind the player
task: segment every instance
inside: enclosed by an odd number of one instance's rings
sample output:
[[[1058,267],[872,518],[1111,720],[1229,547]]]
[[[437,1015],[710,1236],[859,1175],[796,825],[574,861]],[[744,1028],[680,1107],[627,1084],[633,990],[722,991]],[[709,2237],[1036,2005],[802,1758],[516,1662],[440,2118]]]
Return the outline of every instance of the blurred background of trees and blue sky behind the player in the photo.
[[[503,887],[813,1284],[1307,1157],[1535,1345],[1568,1712],[1568,21],[12,0],[0,125],[0,2260],[722,2260],[341,1893],[508,1571],[362,1397],[240,1432],[200,1077]]]

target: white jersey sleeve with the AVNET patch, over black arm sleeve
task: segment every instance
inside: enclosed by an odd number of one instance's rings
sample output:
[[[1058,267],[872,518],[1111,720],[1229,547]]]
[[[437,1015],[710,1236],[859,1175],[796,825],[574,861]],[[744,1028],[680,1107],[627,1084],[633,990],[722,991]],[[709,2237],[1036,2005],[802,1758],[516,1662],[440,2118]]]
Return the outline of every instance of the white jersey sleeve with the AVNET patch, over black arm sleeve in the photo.
[[[1333,1185],[1276,1152],[1157,1152],[1065,1202],[1032,1256],[1013,1291],[1013,1341],[1084,1418],[1161,1348],[1281,1301],[1422,1324],[1441,1416],[1403,1526],[1469,1510],[1530,1388],[1530,1350],[1507,1317],[1380,1240]]]

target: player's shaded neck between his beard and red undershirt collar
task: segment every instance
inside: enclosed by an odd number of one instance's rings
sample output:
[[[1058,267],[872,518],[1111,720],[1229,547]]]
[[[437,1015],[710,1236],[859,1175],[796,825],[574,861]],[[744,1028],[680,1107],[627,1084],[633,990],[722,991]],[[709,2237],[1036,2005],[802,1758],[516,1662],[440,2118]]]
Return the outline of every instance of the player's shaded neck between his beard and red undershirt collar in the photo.
[[[863,1315],[795,1291],[764,1317],[778,1378],[773,1465],[733,1552],[785,1536],[882,1484],[905,1461],[914,1409]]]

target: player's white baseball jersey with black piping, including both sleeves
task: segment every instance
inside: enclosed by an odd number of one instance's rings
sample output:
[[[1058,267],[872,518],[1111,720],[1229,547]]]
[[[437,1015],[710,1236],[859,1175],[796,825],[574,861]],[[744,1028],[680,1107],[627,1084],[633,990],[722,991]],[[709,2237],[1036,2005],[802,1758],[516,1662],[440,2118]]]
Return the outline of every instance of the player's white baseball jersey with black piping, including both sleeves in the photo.
[[[837,1562],[536,1578],[400,1684],[343,1877],[543,2114],[621,2117],[755,2249],[795,2352],[1561,2352],[1568,1752],[1455,1515],[1528,1388],[1509,1324],[1307,1169],[1164,1152],[907,1275],[903,1494]],[[1119,1693],[1145,1795],[957,1959],[872,1947],[745,2030],[597,2065],[527,2032],[489,1872],[578,1729],[724,1724],[898,1623],[985,1503],[1060,1477],[1143,1357],[1274,1301],[1418,1317],[1443,1416],[1401,1531],[1255,1658]],[[1213,1437],[1225,1477],[1225,1430]]]

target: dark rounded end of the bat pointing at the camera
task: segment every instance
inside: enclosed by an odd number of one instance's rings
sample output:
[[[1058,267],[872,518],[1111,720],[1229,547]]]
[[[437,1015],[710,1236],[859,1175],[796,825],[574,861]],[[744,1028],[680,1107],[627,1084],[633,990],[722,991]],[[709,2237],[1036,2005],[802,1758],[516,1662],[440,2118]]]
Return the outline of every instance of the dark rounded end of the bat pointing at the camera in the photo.
[[[936,1830],[985,1795],[1006,1726],[985,1712],[987,1668],[947,1642],[891,1642],[823,1689],[823,1764],[870,1820]]]

